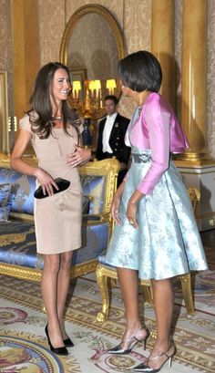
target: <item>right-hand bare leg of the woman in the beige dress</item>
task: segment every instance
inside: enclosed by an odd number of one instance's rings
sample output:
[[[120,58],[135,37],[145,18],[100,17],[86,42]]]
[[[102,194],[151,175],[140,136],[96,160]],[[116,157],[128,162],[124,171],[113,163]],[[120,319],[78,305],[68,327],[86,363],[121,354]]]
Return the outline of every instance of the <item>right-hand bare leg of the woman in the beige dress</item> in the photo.
[[[57,278],[57,315],[61,326],[63,339],[67,339],[64,327],[64,311],[70,281],[72,251],[60,254],[60,268]]]

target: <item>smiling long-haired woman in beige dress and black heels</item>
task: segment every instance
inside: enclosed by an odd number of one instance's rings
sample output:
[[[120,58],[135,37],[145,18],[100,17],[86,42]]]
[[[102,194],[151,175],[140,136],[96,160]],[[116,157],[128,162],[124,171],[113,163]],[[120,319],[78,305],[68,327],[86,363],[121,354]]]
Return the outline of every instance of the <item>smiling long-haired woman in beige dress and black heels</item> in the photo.
[[[91,153],[81,148],[83,130],[74,109],[67,106],[71,91],[68,68],[58,62],[42,67],[37,76],[30,110],[20,120],[20,131],[11,155],[11,167],[36,176],[46,198],[35,200],[36,247],[44,256],[42,296],[46,306],[46,337],[50,349],[67,355],[73,343],[64,326],[64,309],[73,250],[81,245],[82,189],[77,166]],[[28,142],[36,152],[37,167],[23,160]],[[56,178],[70,181],[57,190]]]

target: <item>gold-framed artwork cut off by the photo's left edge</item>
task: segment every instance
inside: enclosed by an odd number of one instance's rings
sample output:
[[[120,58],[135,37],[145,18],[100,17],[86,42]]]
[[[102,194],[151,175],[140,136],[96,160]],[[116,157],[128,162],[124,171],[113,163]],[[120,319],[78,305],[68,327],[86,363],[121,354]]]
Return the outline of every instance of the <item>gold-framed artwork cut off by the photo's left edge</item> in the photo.
[[[7,75],[0,71],[0,151],[9,153]]]

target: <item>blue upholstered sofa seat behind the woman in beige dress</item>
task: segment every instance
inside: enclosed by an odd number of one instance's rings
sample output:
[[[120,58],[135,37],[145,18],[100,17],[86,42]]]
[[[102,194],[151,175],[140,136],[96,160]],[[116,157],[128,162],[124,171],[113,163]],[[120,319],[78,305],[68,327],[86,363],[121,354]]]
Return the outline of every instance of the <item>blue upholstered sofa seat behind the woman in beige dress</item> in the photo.
[[[82,227],[83,247],[75,250],[72,264],[81,264],[96,259],[107,248],[107,223]],[[0,262],[43,268],[43,256],[36,255],[34,223],[0,223]]]

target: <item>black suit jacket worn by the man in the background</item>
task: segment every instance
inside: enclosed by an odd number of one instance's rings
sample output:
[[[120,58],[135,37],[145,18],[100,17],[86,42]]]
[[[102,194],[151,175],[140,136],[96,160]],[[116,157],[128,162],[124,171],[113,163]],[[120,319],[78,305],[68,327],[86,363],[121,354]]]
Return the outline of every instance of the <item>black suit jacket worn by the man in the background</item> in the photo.
[[[113,153],[110,154],[109,157],[107,157],[107,153],[103,153],[102,151],[102,136],[106,120],[106,118],[102,119],[98,127],[96,152],[97,161],[116,157],[118,161],[128,164],[130,148],[125,144],[125,134],[128,129],[130,120],[128,118],[122,117],[119,114],[117,115],[109,137],[109,146],[113,151]]]

